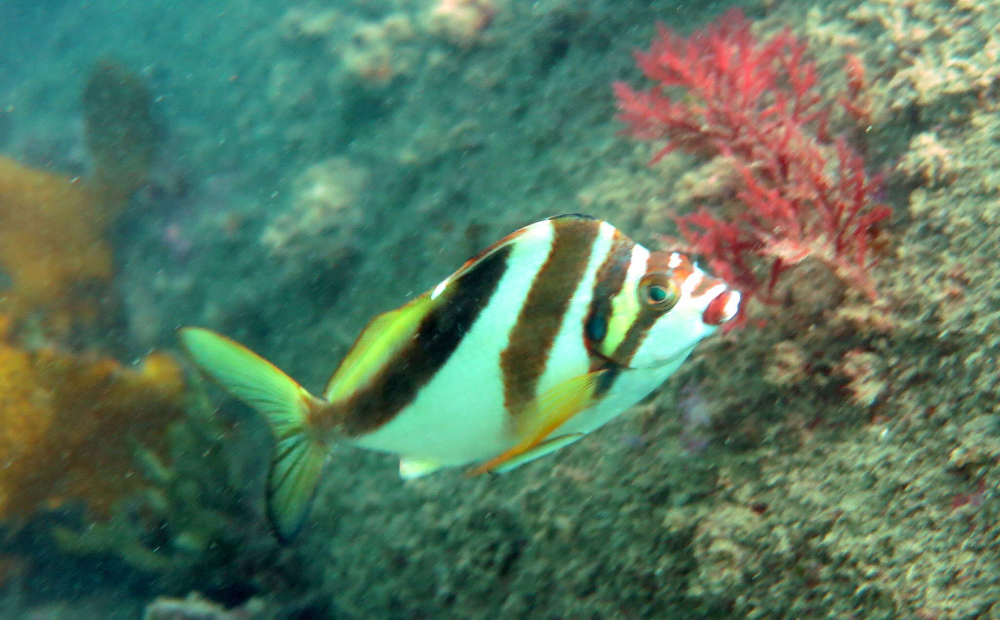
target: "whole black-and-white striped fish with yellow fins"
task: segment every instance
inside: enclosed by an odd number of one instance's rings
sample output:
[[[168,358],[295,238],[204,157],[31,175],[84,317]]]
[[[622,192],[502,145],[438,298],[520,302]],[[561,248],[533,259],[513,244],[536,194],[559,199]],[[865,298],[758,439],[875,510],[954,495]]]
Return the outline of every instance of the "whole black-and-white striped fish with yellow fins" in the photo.
[[[567,215],[508,235],[375,317],[322,398],[207,329],[186,327],[181,339],[270,423],[268,514],[288,540],[338,443],[398,454],[404,478],[469,463],[506,471],[645,397],[739,303],[683,255]]]

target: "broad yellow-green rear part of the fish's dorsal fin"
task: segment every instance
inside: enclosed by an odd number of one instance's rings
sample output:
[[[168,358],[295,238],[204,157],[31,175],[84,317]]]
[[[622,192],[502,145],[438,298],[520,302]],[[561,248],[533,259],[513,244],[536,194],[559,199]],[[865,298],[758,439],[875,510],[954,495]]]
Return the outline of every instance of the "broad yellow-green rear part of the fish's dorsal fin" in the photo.
[[[402,308],[372,318],[330,377],[323,392],[327,400],[335,402],[364,386],[413,338],[420,321],[437,304],[425,293]]]

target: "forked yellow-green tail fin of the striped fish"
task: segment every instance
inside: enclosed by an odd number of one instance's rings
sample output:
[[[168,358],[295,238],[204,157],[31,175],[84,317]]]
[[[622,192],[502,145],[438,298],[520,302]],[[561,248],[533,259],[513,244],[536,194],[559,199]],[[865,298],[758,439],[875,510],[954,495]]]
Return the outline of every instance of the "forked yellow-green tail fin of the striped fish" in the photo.
[[[267,474],[267,516],[282,542],[302,529],[328,450],[314,425],[327,404],[242,344],[200,327],[180,339],[194,362],[234,396],[260,411],[274,433]]]

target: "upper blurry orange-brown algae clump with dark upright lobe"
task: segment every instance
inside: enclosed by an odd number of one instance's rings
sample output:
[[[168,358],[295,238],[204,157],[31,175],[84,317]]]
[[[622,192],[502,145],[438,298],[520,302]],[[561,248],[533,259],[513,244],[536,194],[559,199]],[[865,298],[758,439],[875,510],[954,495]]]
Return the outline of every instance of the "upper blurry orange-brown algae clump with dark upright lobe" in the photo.
[[[0,273],[10,280],[0,311],[16,318],[41,311],[57,329],[96,314],[94,292],[114,275],[105,233],[153,160],[150,101],[139,77],[103,61],[83,93],[91,179],[0,157]]]

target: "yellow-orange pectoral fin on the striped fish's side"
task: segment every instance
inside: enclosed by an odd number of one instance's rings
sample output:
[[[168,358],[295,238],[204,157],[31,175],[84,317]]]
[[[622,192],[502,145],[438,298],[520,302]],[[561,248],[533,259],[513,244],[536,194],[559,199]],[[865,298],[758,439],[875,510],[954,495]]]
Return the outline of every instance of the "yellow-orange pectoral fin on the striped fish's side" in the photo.
[[[571,417],[593,404],[594,390],[601,377],[607,372],[609,370],[601,369],[574,376],[532,400],[518,416],[517,435],[519,441],[499,456],[474,468],[469,472],[469,475],[498,470],[502,465],[515,459],[518,461],[517,464],[530,460],[530,458],[523,459],[522,457],[539,446]],[[551,449],[556,447],[560,446],[556,445]],[[537,455],[540,456],[551,449]],[[516,465],[503,467],[503,469],[512,469],[514,466]]]

